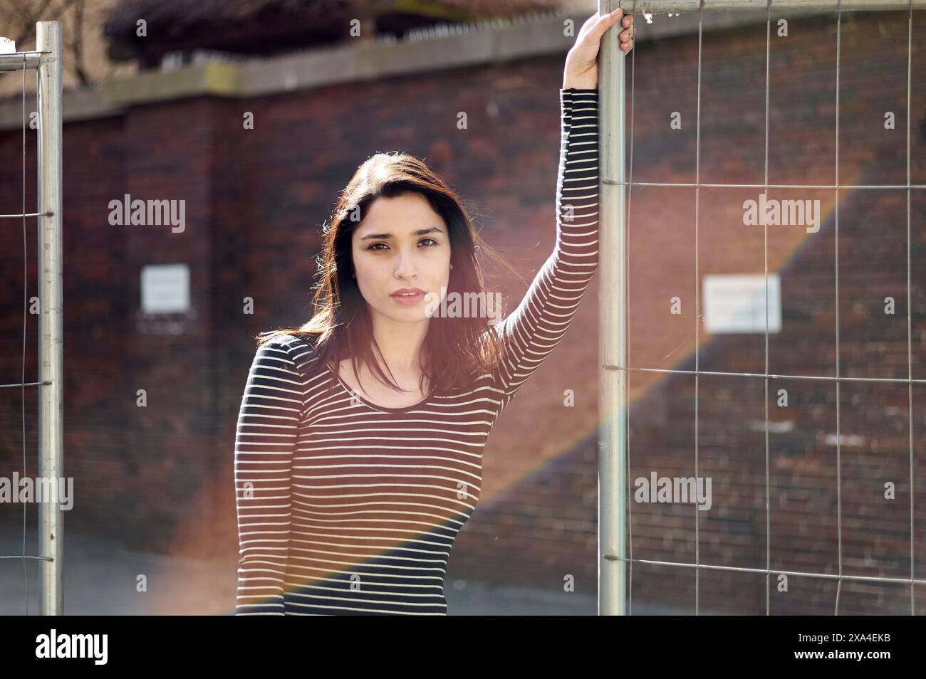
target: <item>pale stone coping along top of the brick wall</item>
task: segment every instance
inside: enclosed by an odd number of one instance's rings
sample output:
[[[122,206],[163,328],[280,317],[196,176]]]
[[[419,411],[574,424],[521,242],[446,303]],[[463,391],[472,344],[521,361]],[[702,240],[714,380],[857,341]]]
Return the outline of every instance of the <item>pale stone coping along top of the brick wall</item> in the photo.
[[[816,12],[819,14],[819,12]],[[781,13],[777,18],[806,15]],[[171,70],[145,70],[94,88],[63,93],[66,122],[119,116],[131,105],[144,105],[194,96],[252,97],[310,90],[327,85],[383,77],[426,73],[530,56],[565,53],[574,43],[563,35],[563,21],[573,19],[575,31],[585,15],[550,12],[514,20],[492,20],[458,27],[412,31],[406,40],[376,39],[311,49],[276,57],[223,57],[199,53],[194,63]],[[697,32],[696,13],[655,17],[644,26],[637,19],[637,44]],[[764,12],[704,15],[704,31],[765,23]],[[556,30],[551,30],[556,29]],[[27,76],[28,77],[28,76]],[[35,97],[26,94],[27,116],[35,110]],[[0,102],[0,130],[22,125],[22,97]]]

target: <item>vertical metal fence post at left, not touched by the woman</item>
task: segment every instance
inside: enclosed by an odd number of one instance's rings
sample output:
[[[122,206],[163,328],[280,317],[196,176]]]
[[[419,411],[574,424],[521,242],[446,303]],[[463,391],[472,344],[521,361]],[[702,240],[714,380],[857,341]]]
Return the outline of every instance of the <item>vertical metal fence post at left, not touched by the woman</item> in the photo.
[[[61,231],[61,22],[39,21],[39,477],[56,488],[64,466],[63,292]],[[44,213],[50,213],[45,215]],[[47,384],[44,384],[47,382]],[[60,496],[57,496],[60,497]],[[39,502],[39,562],[42,615],[60,615],[63,514],[54,501]]]

